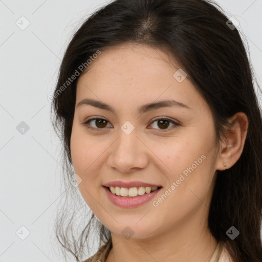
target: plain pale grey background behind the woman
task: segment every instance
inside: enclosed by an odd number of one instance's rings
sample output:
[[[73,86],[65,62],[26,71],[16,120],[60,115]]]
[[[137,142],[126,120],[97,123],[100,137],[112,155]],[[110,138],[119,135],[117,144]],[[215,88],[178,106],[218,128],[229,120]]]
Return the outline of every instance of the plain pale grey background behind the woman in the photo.
[[[261,85],[262,1],[216,2],[239,20]],[[0,1],[0,261],[63,261],[53,232],[56,205],[63,197],[60,142],[50,123],[48,96],[72,34],[105,3]],[[25,128],[24,134],[19,128]],[[28,237],[20,239],[27,230]]]

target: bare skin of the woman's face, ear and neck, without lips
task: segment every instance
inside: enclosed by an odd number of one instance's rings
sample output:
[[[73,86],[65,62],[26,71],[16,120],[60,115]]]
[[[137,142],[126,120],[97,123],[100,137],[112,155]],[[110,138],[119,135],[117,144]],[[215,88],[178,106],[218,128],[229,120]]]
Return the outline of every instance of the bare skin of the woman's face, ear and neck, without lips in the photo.
[[[71,154],[83,199],[112,235],[106,262],[209,261],[216,239],[208,228],[208,210],[216,170],[233,166],[242,154],[248,127],[244,113],[231,119],[231,131],[215,146],[210,108],[167,52],[141,44],[101,52],[77,82]],[[78,103],[94,99],[115,113]],[[162,100],[186,104],[139,113],[144,104]],[[92,118],[89,124],[84,122]],[[161,119],[169,118],[173,124]],[[158,119],[158,121],[155,121]],[[160,119],[160,120],[159,120]],[[129,121],[135,129],[125,134]],[[89,129],[88,126],[94,129]],[[229,146],[228,146],[229,145]],[[157,207],[152,205],[201,156],[206,158]],[[134,208],[114,205],[103,184],[115,180],[162,185],[149,202]],[[121,233],[132,229],[132,237]]]

